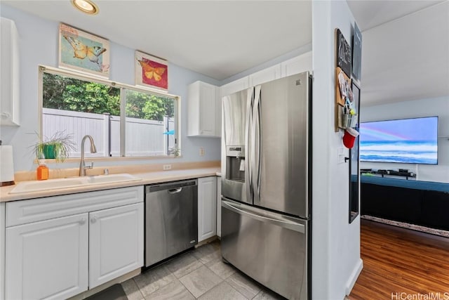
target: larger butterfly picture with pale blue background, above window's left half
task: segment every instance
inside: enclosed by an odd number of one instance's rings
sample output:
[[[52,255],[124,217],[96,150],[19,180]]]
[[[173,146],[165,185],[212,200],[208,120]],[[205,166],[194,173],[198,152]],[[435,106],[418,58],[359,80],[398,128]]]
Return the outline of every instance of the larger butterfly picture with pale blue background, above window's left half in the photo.
[[[60,23],[59,67],[109,79],[109,41]]]

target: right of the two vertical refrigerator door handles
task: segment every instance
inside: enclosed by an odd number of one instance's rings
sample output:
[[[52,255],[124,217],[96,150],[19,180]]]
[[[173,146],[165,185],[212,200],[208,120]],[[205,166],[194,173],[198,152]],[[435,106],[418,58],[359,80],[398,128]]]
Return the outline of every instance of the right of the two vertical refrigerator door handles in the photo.
[[[253,193],[255,199],[254,202],[257,203],[260,203],[260,92],[261,86],[256,86],[253,105],[253,130],[251,132],[251,138],[253,141]]]

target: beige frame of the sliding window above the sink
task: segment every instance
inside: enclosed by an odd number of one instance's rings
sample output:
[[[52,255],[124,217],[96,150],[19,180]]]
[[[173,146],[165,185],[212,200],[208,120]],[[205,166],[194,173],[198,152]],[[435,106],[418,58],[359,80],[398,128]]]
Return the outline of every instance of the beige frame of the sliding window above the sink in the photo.
[[[83,81],[95,82],[98,84],[105,84],[112,86],[116,89],[120,89],[120,156],[118,157],[89,157],[90,160],[112,160],[112,159],[163,159],[170,157],[181,157],[175,155],[152,155],[152,156],[126,156],[126,90],[138,91],[141,93],[150,93],[156,96],[162,96],[166,98],[173,98],[175,103],[175,147],[181,149],[181,97],[170,93],[161,92],[160,90],[147,88],[145,86],[132,86],[130,84],[123,84],[117,81],[104,79],[101,77],[89,76],[86,74],[80,74],[78,72],[72,72],[56,67],[48,67],[45,65],[39,65],[39,94],[38,94],[38,120],[39,120],[39,136],[43,133],[43,73],[55,74],[64,77],[72,77]],[[79,160],[79,157],[69,157],[66,161],[70,162]],[[53,161],[55,159],[46,159],[47,161]]]

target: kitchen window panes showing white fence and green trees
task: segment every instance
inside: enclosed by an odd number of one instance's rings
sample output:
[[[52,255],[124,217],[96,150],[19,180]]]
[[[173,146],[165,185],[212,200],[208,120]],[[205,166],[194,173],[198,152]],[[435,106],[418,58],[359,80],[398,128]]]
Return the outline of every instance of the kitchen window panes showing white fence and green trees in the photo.
[[[179,97],[102,79],[40,67],[44,137],[72,134],[81,156],[81,139],[93,137],[97,153],[86,157],[178,155]]]

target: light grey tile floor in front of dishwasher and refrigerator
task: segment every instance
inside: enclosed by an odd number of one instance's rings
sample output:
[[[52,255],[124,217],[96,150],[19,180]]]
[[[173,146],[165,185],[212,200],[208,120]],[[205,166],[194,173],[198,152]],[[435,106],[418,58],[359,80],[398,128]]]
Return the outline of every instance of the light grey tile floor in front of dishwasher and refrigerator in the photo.
[[[218,240],[146,270],[121,285],[129,300],[283,299],[223,263]]]

